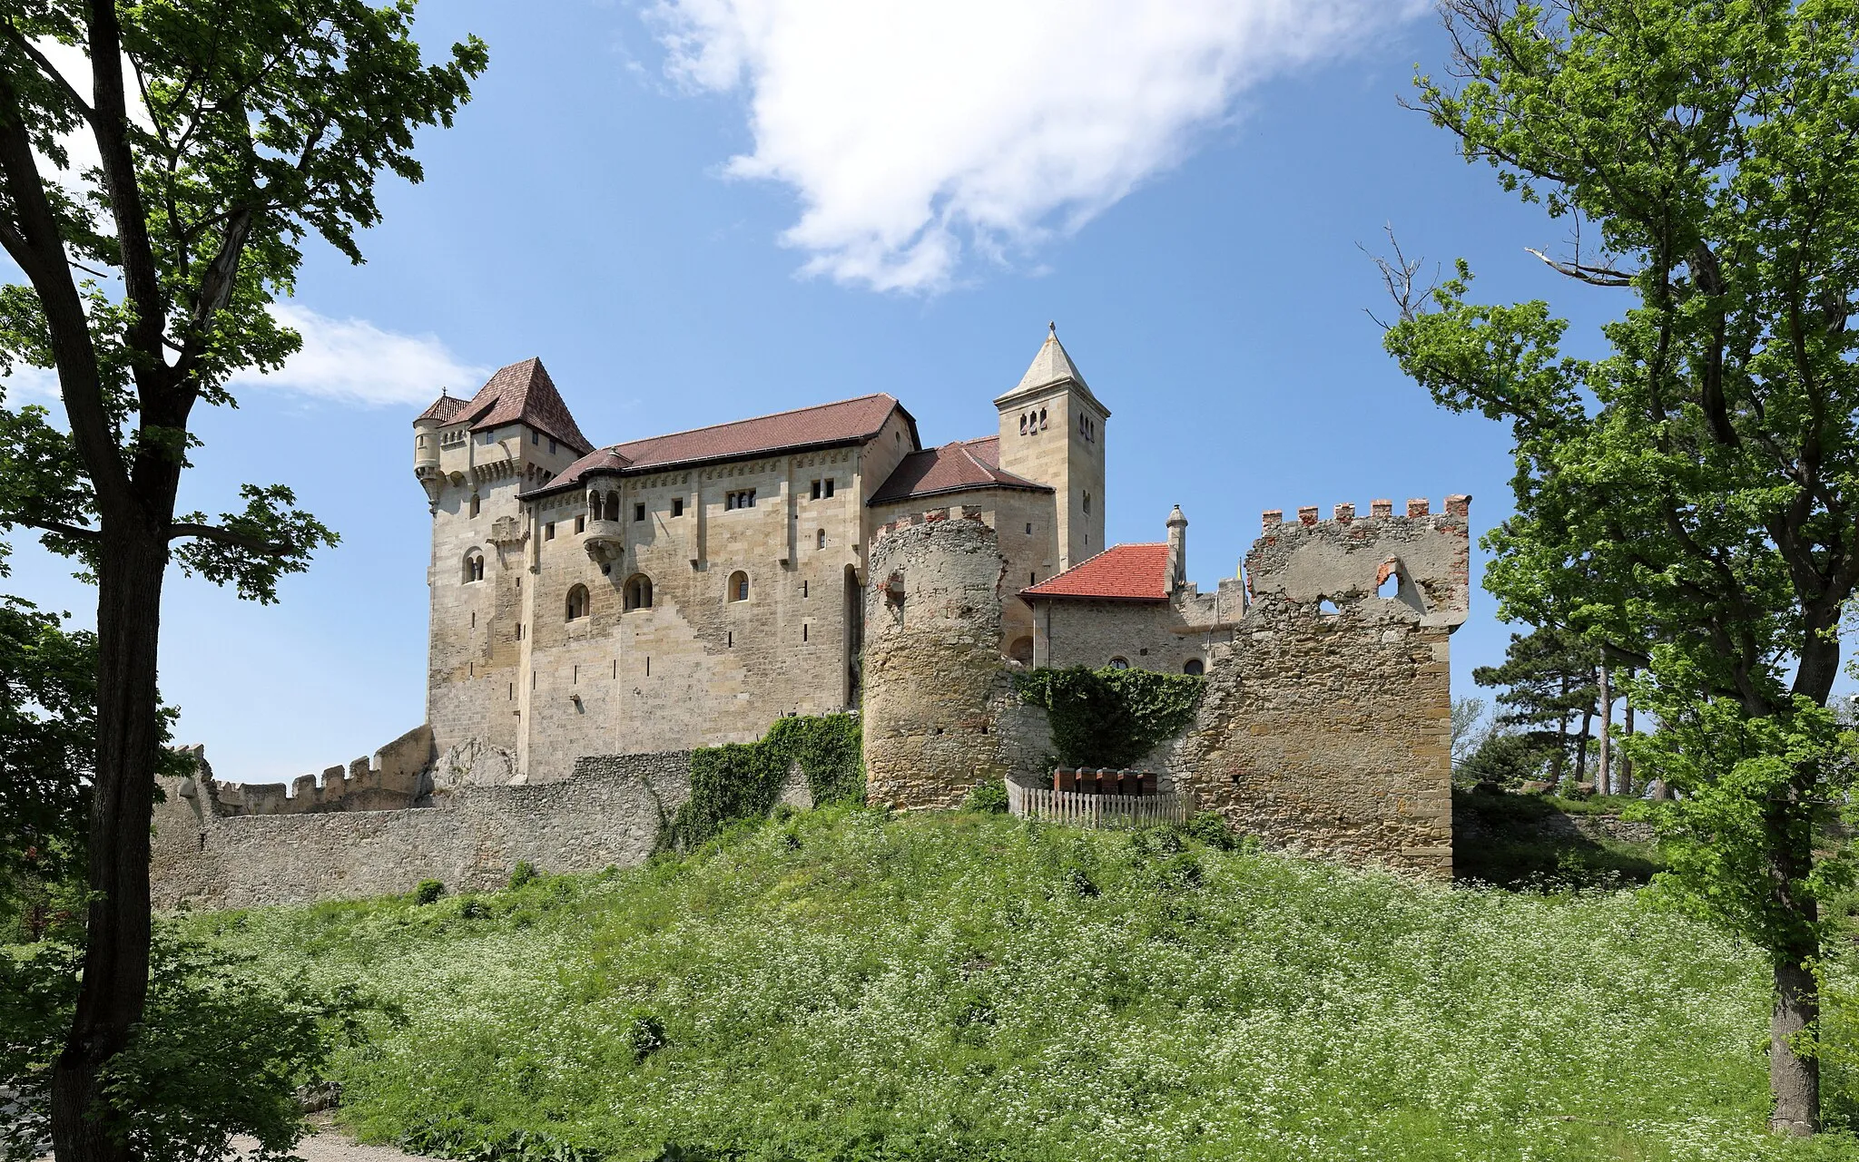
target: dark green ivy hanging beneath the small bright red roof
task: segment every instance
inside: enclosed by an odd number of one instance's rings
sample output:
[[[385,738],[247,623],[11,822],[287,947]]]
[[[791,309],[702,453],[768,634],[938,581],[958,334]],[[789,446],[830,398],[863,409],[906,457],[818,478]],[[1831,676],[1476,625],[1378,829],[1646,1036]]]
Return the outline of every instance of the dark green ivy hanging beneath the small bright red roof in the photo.
[[[1206,679],[1154,669],[1030,669],[1021,701],[1045,706],[1061,766],[1123,768],[1188,729]]]

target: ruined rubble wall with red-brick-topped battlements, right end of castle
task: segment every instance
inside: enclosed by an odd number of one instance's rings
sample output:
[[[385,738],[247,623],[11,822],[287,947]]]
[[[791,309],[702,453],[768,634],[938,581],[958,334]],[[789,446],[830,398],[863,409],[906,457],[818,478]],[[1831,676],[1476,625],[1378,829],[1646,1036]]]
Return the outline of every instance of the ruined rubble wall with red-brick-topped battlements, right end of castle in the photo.
[[[1203,809],[1273,846],[1450,874],[1446,636],[1470,597],[1467,506],[1266,513],[1251,608],[1171,757]]]

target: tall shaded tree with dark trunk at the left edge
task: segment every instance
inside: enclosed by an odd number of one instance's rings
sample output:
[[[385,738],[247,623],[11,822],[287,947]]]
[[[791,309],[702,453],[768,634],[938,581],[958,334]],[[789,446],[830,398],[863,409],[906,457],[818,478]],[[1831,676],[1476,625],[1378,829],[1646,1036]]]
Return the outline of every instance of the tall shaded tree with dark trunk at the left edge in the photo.
[[[361,260],[385,169],[420,180],[413,132],[450,125],[480,41],[420,61],[411,0],[19,0],[0,17],[0,364],[52,368],[67,428],[0,418],[0,528],[37,530],[97,582],[97,753],[84,987],[52,1082],[61,1162],[128,1158],[97,1108],[149,987],[154,690],[169,560],[270,602],[335,543],[283,485],[178,513],[197,403],[299,337],[266,310],[314,232]],[[78,50],[87,76],[54,54]],[[76,145],[93,164],[73,164]]]

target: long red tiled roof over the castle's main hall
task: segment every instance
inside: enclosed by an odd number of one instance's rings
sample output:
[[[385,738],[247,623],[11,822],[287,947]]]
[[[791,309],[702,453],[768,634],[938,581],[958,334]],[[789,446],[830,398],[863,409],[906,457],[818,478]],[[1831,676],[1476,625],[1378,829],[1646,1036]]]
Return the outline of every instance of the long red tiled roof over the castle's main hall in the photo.
[[[812,448],[822,444],[850,444],[876,437],[892,411],[902,411],[902,403],[889,394],[859,396],[838,403],[818,403],[796,411],[777,411],[775,415],[755,416],[753,420],[734,420],[731,424],[712,424],[692,431],[654,435],[643,441],[612,444],[602,452],[625,461],[626,472],[651,472],[671,465],[686,465],[710,459],[736,459],[744,456],[766,456],[788,448]],[[903,413],[911,424],[915,441],[916,422],[911,413]],[[535,493],[565,489],[597,465],[593,456],[569,465],[560,476]]]

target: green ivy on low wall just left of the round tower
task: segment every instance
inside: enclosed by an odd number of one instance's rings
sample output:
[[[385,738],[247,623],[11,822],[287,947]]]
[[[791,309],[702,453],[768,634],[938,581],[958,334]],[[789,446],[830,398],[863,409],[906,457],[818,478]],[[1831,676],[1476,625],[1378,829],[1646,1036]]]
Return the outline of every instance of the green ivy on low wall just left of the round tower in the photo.
[[[760,742],[692,751],[692,798],[658,833],[660,850],[690,852],[731,824],[766,816],[799,764],[814,805],[864,798],[859,718],[783,718]]]

